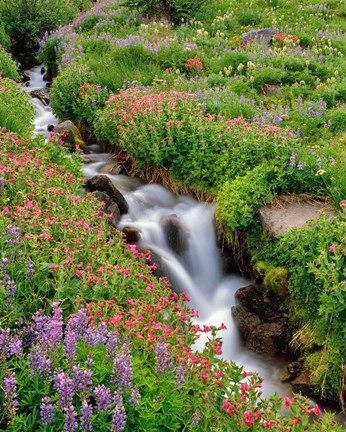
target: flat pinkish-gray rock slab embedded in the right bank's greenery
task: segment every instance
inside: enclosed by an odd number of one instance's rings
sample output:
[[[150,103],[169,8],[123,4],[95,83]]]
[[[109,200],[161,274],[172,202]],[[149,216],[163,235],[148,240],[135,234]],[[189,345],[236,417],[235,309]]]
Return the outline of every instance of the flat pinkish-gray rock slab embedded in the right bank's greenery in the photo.
[[[330,218],[337,215],[331,204],[324,202],[304,201],[299,196],[295,198],[278,197],[275,204],[269,204],[259,209],[262,227],[271,237],[286,233],[291,228],[301,228],[309,220],[319,219],[326,213]]]

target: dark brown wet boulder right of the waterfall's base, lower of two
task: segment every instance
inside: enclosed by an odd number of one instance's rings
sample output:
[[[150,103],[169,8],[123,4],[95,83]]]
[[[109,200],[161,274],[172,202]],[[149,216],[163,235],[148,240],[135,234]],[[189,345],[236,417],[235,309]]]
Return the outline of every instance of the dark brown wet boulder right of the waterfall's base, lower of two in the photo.
[[[281,322],[259,324],[249,334],[246,346],[260,354],[278,354],[285,348],[286,325]]]

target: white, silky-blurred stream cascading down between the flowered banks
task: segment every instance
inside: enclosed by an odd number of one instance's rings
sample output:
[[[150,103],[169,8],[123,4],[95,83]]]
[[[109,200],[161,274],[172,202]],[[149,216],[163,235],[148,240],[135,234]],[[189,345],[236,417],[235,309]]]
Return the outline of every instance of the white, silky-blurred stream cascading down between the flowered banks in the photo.
[[[29,85],[23,85],[26,91],[46,86],[41,66],[35,66],[26,74],[30,76]],[[34,135],[40,133],[48,137],[47,126],[57,125],[58,119],[48,105],[37,98],[32,100],[37,113]],[[292,394],[290,385],[282,384],[277,379],[285,361],[278,357],[257,355],[241,343],[231,307],[235,304],[236,290],[251,281],[238,274],[225,274],[222,270],[214,229],[215,205],[206,205],[188,196],[177,196],[158,184],[145,184],[137,178],[111,175],[109,170],[105,170],[109,166],[110,155],[100,152],[97,145],[89,146],[88,150],[89,163],[83,167],[85,177],[106,173],[129,205],[129,212],[122,216],[119,228],[136,228],[140,232],[140,244],[161,257],[173,287],[179,292],[184,291],[191,298],[190,306],[199,311],[196,324],[226,325],[227,330],[219,332],[223,339],[223,358],[242,365],[246,371],[258,372],[264,379],[264,396],[274,392]],[[163,229],[164,221],[172,215],[184,233],[184,248],[180,253],[169,246]],[[202,343],[203,340],[199,340],[195,348],[198,349]]]

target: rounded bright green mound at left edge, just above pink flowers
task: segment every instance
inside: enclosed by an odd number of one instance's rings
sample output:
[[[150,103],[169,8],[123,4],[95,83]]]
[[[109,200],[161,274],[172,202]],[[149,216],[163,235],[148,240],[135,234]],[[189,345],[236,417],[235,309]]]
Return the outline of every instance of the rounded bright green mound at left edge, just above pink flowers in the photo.
[[[28,94],[14,81],[0,77],[0,126],[28,138],[34,129],[34,117]]]

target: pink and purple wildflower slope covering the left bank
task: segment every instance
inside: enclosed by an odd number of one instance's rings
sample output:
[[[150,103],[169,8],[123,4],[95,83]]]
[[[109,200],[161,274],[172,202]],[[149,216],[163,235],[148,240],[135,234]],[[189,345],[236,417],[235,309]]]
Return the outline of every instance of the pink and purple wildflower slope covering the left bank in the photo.
[[[1,430],[341,430],[303,398],[260,399],[257,375],[221,359],[223,326],[194,325],[188,297],[80,196],[58,137],[0,140]]]

